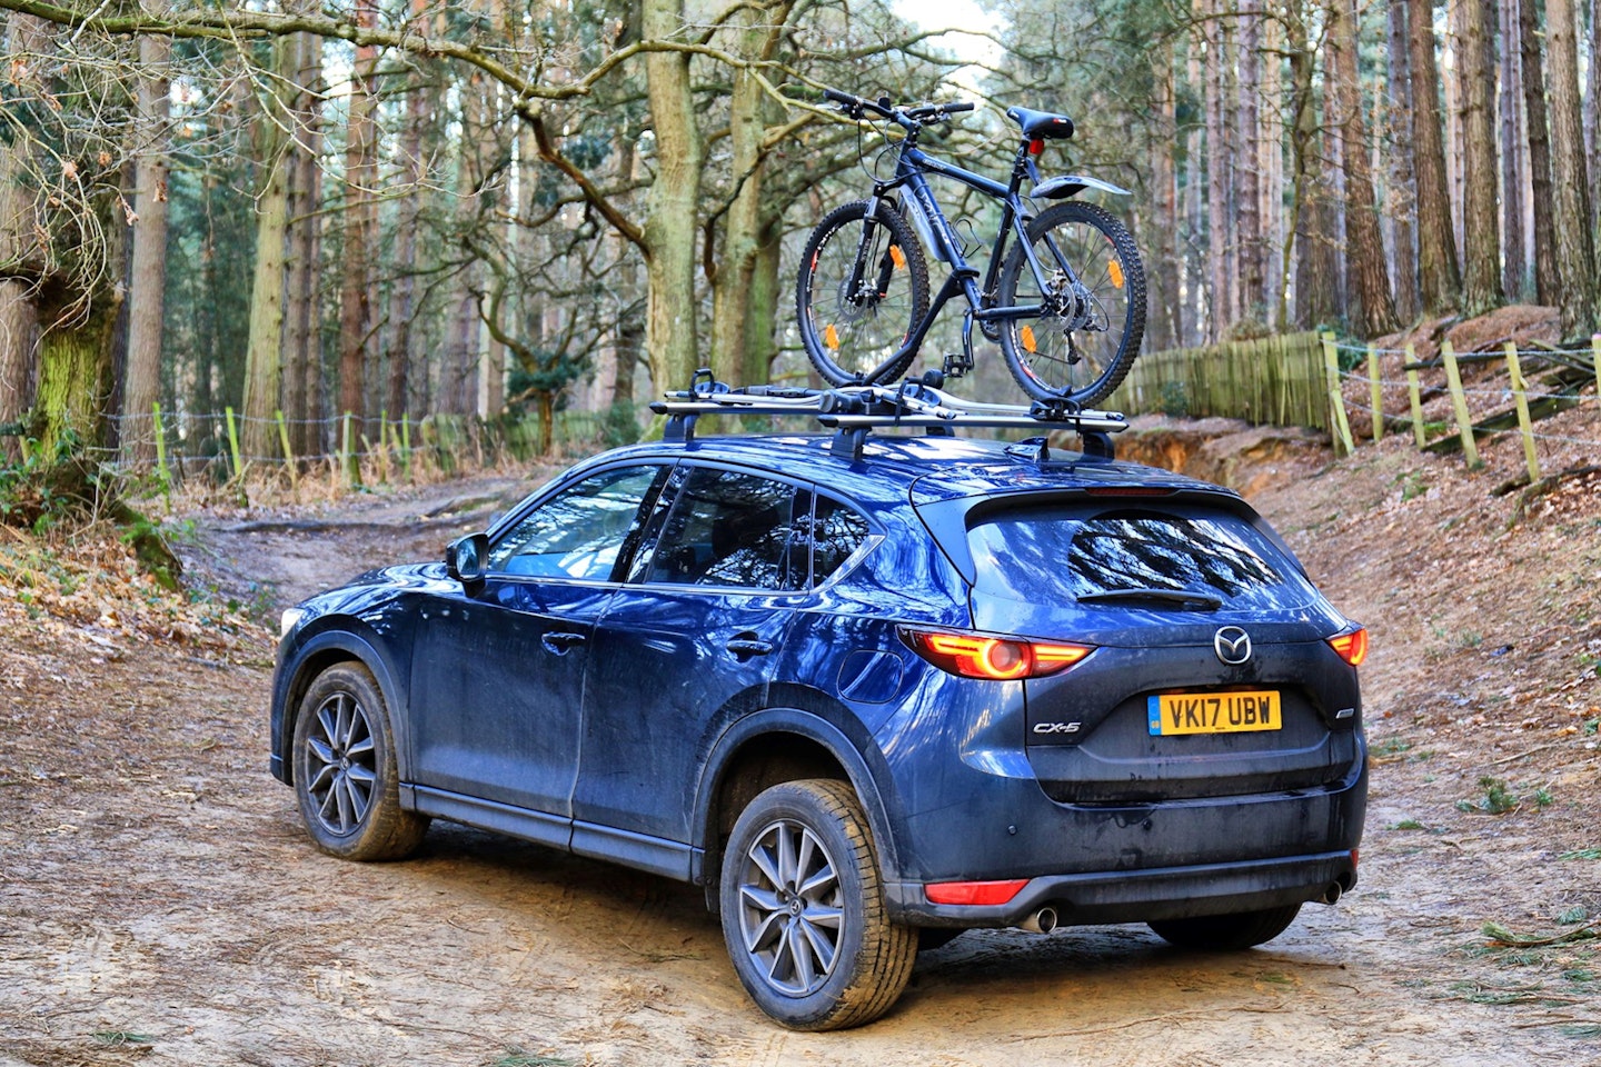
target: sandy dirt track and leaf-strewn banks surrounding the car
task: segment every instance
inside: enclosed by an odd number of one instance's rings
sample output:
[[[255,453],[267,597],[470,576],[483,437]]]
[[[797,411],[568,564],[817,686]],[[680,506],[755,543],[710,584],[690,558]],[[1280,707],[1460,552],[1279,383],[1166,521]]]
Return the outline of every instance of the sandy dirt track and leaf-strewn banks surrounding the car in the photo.
[[[1590,443],[1548,470],[1596,462],[1593,405],[1547,426]],[[339,862],[266,771],[266,619],[549,470],[195,507],[187,595],[0,530],[0,1067],[1601,1064],[1601,477],[1497,494],[1516,440],[1234,459],[1372,632],[1361,885],[1234,955],[969,933],[831,1035],[751,1006],[696,888],[439,824]]]

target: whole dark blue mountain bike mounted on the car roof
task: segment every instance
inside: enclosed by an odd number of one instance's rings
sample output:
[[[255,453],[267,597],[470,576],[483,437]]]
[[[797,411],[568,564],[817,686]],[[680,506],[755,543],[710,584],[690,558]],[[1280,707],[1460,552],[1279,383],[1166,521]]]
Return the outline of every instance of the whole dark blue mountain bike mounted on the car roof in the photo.
[[[1082,408],[1122,382],[1145,331],[1145,269],[1129,230],[1111,213],[1066,200],[1084,189],[1127,189],[1084,174],[1041,179],[1034,158],[1045,141],[1073,136],[1066,115],[1012,107],[1021,142],[1007,184],[933,158],[917,147],[924,128],[973,110],[970,102],[897,107],[839,90],[823,96],[850,118],[897,123],[895,174],[874,176],[873,195],[834,208],[800,254],[796,309],[800,341],[833,386],[887,384],[906,373],[933,320],[956,296],[967,301],[962,352],[946,355],[941,378],[973,370],[973,323],[1001,352],[1018,386],[1039,402]],[[954,179],[1002,203],[985,272],[973,267],[927,174]],[[1033,189],[1023,194],[1023,182]],[[949,264],[929,302],[924,248]],[[980,282],[981,278],[981,282]]]

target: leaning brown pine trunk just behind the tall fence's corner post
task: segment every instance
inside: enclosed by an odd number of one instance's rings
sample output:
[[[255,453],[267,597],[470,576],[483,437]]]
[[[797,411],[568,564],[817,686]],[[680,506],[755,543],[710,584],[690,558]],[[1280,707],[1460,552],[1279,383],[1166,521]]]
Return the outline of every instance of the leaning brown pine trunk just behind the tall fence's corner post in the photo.
[[[1332,83],[1338,126],[1345,144],[1345,258],[1351,294],[1356,298],[1356,328],[1375,338],[1396,328],[1385,267],[1385,240],[1378,232],[1374,179],[1367,160],[1367,130],[1362,122],[1362,86],[1356,80],[1356,8],[1353,0],[1334,0],[1329,8]]]

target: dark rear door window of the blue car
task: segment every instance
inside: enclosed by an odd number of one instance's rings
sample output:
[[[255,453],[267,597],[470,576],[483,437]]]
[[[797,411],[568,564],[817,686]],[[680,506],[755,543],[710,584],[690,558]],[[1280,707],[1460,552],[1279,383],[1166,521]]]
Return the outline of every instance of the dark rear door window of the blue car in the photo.
[[[789,566],[794,506],[796,490],[783,482],[695,467],[672,502],[644,581],[796,589]]]

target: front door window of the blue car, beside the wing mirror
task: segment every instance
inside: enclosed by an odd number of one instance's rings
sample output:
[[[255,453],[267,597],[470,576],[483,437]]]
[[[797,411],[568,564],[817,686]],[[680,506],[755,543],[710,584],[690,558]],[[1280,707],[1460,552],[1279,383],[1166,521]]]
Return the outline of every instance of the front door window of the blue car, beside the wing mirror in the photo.
[[[498,574],[608,581],[664,467],[602,470],[524,515],[490,547]]]

